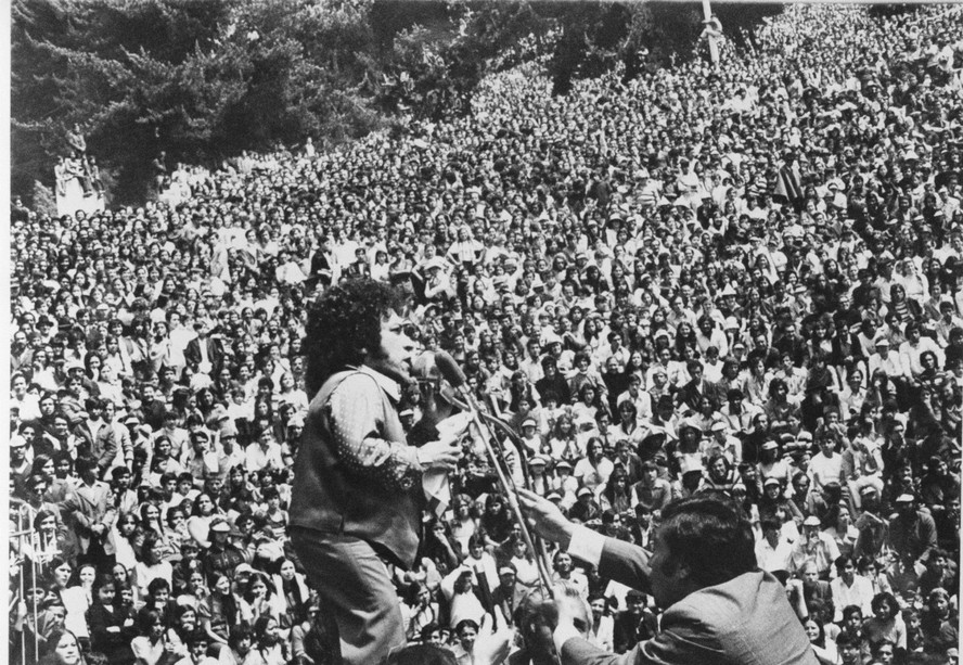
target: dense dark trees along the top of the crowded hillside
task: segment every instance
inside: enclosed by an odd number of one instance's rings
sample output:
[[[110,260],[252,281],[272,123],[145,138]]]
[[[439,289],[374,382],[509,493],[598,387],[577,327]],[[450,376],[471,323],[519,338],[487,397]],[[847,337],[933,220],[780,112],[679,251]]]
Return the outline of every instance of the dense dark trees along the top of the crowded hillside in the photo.
[[[217,163],[438,118],[466,111],[487,71],[540,56],[564,93],[618,61],[631,76],[691,56],[702,29],[699,3],[14,0],[12,12],[12,184],[27,199],[75,123],[115,201],[136,201],[160,150]]]

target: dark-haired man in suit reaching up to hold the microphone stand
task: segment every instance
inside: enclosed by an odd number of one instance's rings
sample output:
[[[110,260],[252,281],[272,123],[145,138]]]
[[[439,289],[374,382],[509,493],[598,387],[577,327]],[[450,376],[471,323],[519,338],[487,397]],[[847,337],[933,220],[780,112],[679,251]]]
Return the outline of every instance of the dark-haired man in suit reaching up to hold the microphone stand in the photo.
[[[752,525],[728,497],[703,493],[671,502],[650,554],[568,522],[534,493],[519,495],[543,538],[665,609],[659,634],[618,656],[590,643],[578,617],[560,604],[553,639],[563,665],[818,663],[785,589],[756,566]]]

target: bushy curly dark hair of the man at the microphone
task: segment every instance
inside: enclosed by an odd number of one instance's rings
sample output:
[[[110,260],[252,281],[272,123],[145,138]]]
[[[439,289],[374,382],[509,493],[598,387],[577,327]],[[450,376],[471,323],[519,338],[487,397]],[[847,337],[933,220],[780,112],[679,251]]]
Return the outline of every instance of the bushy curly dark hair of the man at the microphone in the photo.
[[[370,279],[342,282],[312,304],[301,345],[308,395],[341,368],[360,365],[364,349],[380,348],[382,319],[400,305],[395,289]]]

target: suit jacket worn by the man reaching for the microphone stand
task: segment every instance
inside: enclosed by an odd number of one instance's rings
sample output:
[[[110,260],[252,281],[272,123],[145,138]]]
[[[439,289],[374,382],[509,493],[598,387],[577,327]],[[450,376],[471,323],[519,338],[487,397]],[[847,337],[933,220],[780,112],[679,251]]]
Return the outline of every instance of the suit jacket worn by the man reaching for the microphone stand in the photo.
[[[639,588],[647,579],[647,558],[634,545],[605,539],[599,573]],[[666,610],[659,634],[615,655],[573,638],[562,648],[564,665],[691,663],[732,665],[817,665],[802,625],[779,580],[762,571],[690,593]]]

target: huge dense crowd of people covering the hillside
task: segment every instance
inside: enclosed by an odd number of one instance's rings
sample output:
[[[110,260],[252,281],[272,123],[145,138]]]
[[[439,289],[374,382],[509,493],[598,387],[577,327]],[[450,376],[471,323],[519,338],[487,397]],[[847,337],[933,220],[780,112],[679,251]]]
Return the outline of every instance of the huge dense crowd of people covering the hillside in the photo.
[[[370,277],[570,519],[649,547],[667,502],[727,493],[822,662],[955,663],[959,9],[793,5],[718,68],[553,98],[521,66],[467,117],[181,172],[176,203],[14,207],[11,662],[335,662],[285,507],[306,303]],[[493,477],[451,474],[399,602],[460,663],[503,625],[543,662]],[[550,554],[599,644],[658,630]]]

